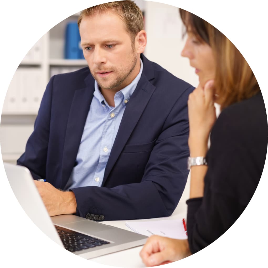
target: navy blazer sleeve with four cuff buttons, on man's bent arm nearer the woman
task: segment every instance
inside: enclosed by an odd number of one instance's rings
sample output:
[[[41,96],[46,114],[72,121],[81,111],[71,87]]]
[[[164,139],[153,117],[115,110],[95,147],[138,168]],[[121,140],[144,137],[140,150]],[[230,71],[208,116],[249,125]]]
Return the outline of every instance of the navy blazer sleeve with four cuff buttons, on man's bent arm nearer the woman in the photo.
[[[162,127],[140,183],[71,189],[77,215],[103,215],[105,220],[165,217],[173,213],[187,181],[188,87],[177,99]]]

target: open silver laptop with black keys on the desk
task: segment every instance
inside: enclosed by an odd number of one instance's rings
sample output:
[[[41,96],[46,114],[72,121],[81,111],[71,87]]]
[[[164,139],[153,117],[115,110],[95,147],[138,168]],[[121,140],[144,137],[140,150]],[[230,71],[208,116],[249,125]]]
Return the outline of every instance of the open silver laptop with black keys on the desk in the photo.
[[[143,245],[147,236],[66,214],[50,217],[30,171],[4,163],[11,188],[31,220],[52,240],[85,259]]]

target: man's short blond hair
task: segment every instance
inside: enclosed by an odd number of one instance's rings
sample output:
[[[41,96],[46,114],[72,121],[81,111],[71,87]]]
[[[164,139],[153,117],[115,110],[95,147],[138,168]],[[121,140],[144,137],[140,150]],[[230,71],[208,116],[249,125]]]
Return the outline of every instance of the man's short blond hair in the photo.
[[[81,11],[78,18],[78,27],[80,27],[83,17],[94,16],[94,14],[103,14],[110,10],[114,11],[125,23],[126,31],[129,32],[132,42],[134,42],[137,33],[144,28],[142,11],[134,1],[116,1],[84,9]]]

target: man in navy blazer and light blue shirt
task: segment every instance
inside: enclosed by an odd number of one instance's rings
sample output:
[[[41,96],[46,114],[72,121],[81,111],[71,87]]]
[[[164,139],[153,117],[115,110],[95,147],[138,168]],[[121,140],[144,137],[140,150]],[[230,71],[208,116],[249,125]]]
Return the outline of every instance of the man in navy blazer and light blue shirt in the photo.
[[[46,179],[35,184],[51,216],[169,216],[188,176],[193,87],[142,55],[132,1],[86,9],[78,25],[89,70],[51,78],[17,163]]]

